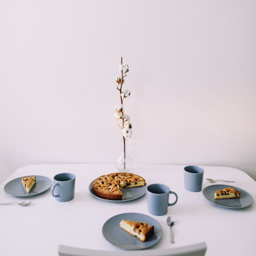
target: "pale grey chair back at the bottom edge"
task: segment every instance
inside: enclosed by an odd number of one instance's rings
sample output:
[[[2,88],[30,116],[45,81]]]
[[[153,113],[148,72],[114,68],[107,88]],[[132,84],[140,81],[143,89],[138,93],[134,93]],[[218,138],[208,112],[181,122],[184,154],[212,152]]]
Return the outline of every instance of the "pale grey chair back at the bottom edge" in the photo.
[[[59,256],[113,256],[120,254],[122,256],[204,256],[207,249],[205,242],[188,245],[184,247],[176,247],[169,249],[145,249],[145,250],[123,250],[102,251],[92,249],[75,248],[65,245],[59,245]]]

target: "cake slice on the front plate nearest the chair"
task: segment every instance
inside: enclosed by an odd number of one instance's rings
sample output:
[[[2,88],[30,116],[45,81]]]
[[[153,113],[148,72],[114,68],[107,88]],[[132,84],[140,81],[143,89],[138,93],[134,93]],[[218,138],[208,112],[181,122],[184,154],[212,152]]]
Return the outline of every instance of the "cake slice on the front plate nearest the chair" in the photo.
[[[148,226],[145,222],[121,220],[120,227],[130,235],[137,236],[142,242],[145,242],[154,234],[154,226]]]

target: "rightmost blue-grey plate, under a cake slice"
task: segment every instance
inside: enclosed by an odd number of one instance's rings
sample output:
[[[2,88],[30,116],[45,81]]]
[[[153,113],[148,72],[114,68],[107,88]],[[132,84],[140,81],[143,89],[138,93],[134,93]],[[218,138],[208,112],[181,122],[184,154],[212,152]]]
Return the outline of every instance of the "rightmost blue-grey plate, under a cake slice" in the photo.
[[[245,190],[240,189],[236,186],[232,186],[232,187],[240,192],[239,199],[237,199],[237,198],[214,199],[214,193],[216,191],[218,191],[220,189],[229,188],[229,187],[231,187],[230,184],[229,185],[217,184],[217,185],[207,186],[203,190],[203,195],[207,200],[209,200],[213,204],[216,204],[216,205],[219,205],[222,207],[226,207],[226,208],[241,209],[241,208],[248,207],[249,205],[252,204],[252,202],[253,202],[252,195],[250,195]]]

